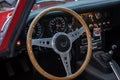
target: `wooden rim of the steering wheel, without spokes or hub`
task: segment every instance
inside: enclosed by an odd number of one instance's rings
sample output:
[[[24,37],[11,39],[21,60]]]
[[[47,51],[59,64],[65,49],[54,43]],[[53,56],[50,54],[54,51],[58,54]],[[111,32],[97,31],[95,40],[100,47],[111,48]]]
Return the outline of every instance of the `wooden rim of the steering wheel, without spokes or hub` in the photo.
[[[82,64],[82,66],[80,67],[80,69],[78,69],[77,72],[75,72],[74,74],[72,74],[70,76],[66,76],[66,77],[56,77],[54,75],[51,75],[51,74],[47,73],[45,70],[43,70],[41,68],[41,66],[38,64],[38,62],[37,62],[37,60],[36,60],[36,58],[34,56],[34,53],[32,51],[32,33],[33,33],[34,28],[35,28],[35,25],[40,20],[40,18],[42,18],[48,12],[56,11],[56,10],[57,11],[58,10],[59,11],[64,11],[64,12],[67,12],[67,13],[71,14],[72,16],[74,16],[82,24],[82,26],[84,27],[85,32],[86,32],[86,36],[87,36],[87,41],[88,41],[88,50],[87,50],[87,55],[86,55],[84,63]],[[85,70],[85,68],[87,67],[87,65],[89,64],[89,61],[90,61],[90,58],[91,58],[91,55],[92,55],[92,41],[91,41],[91,35],[90,35],[90,31],[88,29],[87,24],[85,23],[85,21],[83,20],[83,18],[79,14],[77,14],[75,11],[70,10],[68,8],[64,8],[64,7],[51,7],[51,8],[47,8],[47,9],[43,10],[42,12],[40,12],[34,18],[34,20],[32,21],[32,23],[30,25],[30,28],[28,30],[28,35],[27,35],[27,41],[26,41],[26,43],[27,43],[27,51],[28,51],[28,55],[29,55],[30,61],[32,62],[32,64],[35,67],[35,69],[40,74],[42,74],[44,77],[46,77],[48,79],[52,79],[52,80],[71,80],[71,79],[79,76]]]

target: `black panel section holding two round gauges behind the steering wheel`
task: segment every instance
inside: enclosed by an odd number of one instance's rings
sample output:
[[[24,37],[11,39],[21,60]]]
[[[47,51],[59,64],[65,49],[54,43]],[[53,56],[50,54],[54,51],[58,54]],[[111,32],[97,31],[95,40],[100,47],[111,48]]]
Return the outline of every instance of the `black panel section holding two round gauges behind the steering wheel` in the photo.
[[[27,36],[31,22],[25,27],[24,34]],[[52,37],[57,32],[68,31],[68,18],[64,16],[47,17],[41,19],[34,31],[33,38]]]

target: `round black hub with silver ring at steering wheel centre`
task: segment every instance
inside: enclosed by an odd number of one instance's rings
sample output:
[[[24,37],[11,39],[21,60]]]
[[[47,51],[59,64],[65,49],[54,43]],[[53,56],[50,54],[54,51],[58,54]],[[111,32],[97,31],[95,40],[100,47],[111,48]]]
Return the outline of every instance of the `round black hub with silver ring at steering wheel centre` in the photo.
[[[71,41],[66,33],[56,33],[52,39],[53,49],[56,53],[66,53],[71,49]]]

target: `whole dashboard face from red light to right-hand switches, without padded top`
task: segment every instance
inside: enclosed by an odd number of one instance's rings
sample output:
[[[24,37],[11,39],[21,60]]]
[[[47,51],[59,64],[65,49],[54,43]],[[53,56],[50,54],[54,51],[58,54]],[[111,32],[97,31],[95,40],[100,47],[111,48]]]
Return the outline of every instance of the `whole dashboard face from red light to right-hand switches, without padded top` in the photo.
[[[83,17],[85,22],[87,23],[93,42],[93,50],[102,49],[104,42],[104,32],[111,29],[111,16],[109,12],[86,12],[79,14]],[[27,32],[32,20],[27,23],[24,31],[22,33],[22,38],[19,39],[16,43],[16,51],[22,52],[25,51],[26,46],[25,39],[27,37]],[[46,38],[52,37],[57,32],[65,32],[69,33],[74,31],[76,28],[81,28],[82,25],[79,23],[74,17],[69,14],[58,14],[58,15],[48,15],[43,17],[36,25],[33,31],[33,38]],[[86,34],[83,33],[81,36],[81,45],[80,50],[81,53],[85,53],[87,49],[87,39]],[[21,48],[21,49],[20,49]]]

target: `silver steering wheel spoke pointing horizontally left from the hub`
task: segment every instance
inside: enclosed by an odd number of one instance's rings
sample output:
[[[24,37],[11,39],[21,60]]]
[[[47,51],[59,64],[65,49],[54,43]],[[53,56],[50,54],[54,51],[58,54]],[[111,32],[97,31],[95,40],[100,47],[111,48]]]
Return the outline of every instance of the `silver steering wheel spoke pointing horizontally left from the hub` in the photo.
[[[39,47],[52,48],[52,38],[32,39],[32,45]]]

